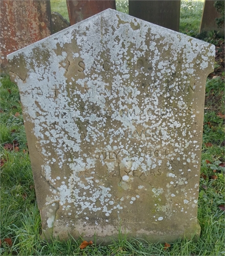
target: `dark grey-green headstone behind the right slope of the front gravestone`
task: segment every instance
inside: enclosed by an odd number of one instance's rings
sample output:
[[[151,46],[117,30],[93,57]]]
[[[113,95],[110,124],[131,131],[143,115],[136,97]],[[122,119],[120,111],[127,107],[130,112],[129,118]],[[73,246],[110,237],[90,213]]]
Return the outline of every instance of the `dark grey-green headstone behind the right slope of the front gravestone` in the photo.
[[[129,0],[129,14],[147,22],[179,31],[181,1]]]

